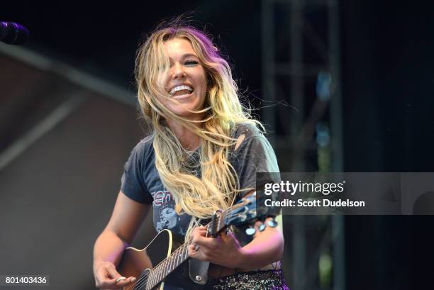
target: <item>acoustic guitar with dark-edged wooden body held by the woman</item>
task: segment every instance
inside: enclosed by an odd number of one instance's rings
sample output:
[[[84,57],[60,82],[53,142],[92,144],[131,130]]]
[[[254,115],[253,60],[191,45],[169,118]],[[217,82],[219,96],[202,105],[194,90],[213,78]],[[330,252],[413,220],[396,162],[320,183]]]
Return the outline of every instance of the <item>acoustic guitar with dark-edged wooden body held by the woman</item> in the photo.
[[[228,226],[241,226],[265,219],[265,211],[256,208],[256,194],[241,199],[225,211],[216,212],[206,225],[207,236],[216,237]],[[191,277],[185,263],[189,260],[189,242],[179,242],[170,230],[162,230],[148,246],[142,250],[127,247],[123,253],[118,271],[123,277],[138,279],[123,290],[167,290],[167,285],[177,285],[184,289],[201,289],[204,279]],[[200,262],[191,260],[190,262]]]

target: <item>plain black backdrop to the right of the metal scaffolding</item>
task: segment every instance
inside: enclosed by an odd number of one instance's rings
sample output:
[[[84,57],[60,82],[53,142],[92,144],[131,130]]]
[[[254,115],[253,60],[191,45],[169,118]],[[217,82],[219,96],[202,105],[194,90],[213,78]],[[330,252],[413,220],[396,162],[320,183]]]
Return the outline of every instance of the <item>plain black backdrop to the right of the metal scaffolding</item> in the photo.
[[[342,1],[341,9],[345,171],[432,172],[433,5]],[[433,216],[345,222],[348,289],[430,286]]]

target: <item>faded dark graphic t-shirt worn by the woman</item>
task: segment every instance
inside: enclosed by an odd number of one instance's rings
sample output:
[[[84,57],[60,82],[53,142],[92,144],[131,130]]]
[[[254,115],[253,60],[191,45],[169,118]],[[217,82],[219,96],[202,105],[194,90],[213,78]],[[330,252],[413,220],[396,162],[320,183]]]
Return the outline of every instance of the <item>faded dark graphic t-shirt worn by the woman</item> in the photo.
[[[240,124],[233,138],[243,134],[245,135],[243,143],[230,154],[230,162],[238,174],[240,189],[254,189],[256,172],[279,172],[279,167],[273,148],[260,130],[250,124]],[[184,236],[191,217],[185,213],[178,215],[174,210],[173,196],[165,189],[155,167],[152,138],[153,135],[144,138],[131,152],[124,167],[121,191],[134,201],[152,204],[153,221],[157,232],[168,229]],[[199,151],[192,153],[190,161],[191,174],[200,178]],[[247,191],[243,194],[247,194]],[[246,239],[238,235],[237,237],[241,238],[242,244],[247,243],[247,237]]]

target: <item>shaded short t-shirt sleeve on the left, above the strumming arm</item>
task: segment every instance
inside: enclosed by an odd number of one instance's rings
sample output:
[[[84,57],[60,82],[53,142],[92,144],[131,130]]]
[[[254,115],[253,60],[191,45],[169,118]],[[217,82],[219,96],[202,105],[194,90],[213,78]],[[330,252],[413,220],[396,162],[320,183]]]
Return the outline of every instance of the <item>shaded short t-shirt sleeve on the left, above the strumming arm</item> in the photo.
[[[152,204],[152,196],[143,181],[143,153],[143,146],[140,146],[140,143],[131,151],[123,167],[121,191],[133,201]]]

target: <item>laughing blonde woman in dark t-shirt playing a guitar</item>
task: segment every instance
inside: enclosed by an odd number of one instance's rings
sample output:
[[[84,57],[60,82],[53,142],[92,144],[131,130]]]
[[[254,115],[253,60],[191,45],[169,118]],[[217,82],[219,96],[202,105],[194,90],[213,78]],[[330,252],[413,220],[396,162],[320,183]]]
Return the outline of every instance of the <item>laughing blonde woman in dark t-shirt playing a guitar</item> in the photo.
[[[189,256],[211,262],[207,289],[287,289],[277,262],[281,228],[266,227],[249,240],[230,232],[207,238],[199,226],[251,194],[256,171],[279,170],[260,123],[240,104],[228,62],[204,33],[170,23],[139,48],[135,76],[153,132],[131,152],[113,214],[96,240],[96,286],[119,289],[138,279],[121,277],[116,264],[153,206],[158,230],[187,237]]]

